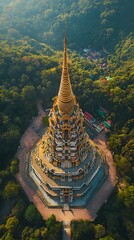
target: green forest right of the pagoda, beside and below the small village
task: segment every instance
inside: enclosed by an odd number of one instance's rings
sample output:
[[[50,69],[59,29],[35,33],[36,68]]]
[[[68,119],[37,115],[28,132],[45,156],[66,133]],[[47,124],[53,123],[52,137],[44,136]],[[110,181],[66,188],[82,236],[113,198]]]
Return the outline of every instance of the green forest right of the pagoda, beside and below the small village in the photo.
[[[114,162],[117,169],[117,186],[109,201],[99,211],[94,224],[93,239],[101,240],[132,240],[134,238],[134,39],[128,37],[117,45],[113,55],[109,55],[108,66],[110,80],[106,81],[100,77],[88,86],[83,86],[83,93],[87,91],[87,101],[90,105],[92,100],[104,106],[109,111],[109,118],[113,126],[111,133],[108,133],[108,145],[114,155]],[[85,89],[84,89],[85,87]],[[92,108],[91,108],[92,109]],[[95,110],[95,109],[94,109]],[[81,224],[90,226],[91,223],[82,221]],[[96,226],[100,224],[105,228],[104,237],[95,235]],[[82,225],[83,226],[83,225]],[[72,222],[72,239],[86,239],[90,231],[81,228],[79,223]],[[89,234],[90,236],[90,234]],[[92,239],[92,237],[88,238]]]

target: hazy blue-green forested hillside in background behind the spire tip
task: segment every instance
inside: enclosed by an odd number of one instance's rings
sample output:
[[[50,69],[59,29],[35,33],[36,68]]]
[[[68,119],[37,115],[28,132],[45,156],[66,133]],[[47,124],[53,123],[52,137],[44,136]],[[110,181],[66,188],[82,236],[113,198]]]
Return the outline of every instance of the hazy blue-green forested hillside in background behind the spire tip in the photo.
[[[29,36],[61,48],[64,25],[70,47],[113,48],[134,29],[133,0],[0,1],[0,32]]]

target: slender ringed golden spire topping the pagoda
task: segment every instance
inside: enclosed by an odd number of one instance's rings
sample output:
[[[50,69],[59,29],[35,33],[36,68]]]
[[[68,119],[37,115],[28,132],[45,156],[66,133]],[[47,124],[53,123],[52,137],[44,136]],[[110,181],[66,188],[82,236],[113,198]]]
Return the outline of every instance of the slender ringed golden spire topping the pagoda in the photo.
[[[60,88],[58,92],[58,107],[61,113],[70,113],[74,106],[74,94],[70,82],[67,63],[67,43],[66,35],[64,37],[63,66]]]

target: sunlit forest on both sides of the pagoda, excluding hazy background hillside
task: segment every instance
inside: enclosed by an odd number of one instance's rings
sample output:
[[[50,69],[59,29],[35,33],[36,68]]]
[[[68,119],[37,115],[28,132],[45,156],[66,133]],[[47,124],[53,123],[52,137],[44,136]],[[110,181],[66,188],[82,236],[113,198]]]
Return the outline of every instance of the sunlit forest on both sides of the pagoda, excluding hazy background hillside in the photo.
[[[95,225],[89,222],[72,223],[73,239],[110,240],[133,239],[134,166],[133,166],[133,37],[127,37],[107,56],[108,68],[100,69],[100,63],[69,55],[69,70],[74,92],[82,109],[95,114],[103,106],[112,120],[109,147],[114,152],[118,184],[110,200],[101,210]],[[14,155],[22,132],[32,115],[36,115],[36,101],[45,107],[52,105],[57,94],[61,75],[61,52],[25,37],[21,40],[3,40],[0,46],[0,238],[20,240],[60,239],[61,225],[47,227],[37,210],[29,205],[15,181],[18,161]],[[94,71],[93,71],[94,69]],[[92,77],[90,78],[92,71]],[[110,80],[104,81],[109,74]],[[90,110],[89,110],[90,109]],[[12,189],[12,191],[10,191]],[[9,204],[10,202],[10,204]],[[31,210],[32,209],[32,210]],[[39,224],[31,220],[40,218]],[[35,215],[33,215],[35,214]],[[32,218],[33,219],[33,218]],[[48,221],[49,222],[49,221]],[[52,221],[53,222],[53,221]],[[78,225],[77,225],[78,224]],[[101,226],[98,226],[100,224]],[[102,226],[103,225],[103,226]],[[83,226],[83,227],[82,227]],[[123,231],[122,231],[123,229]]]

